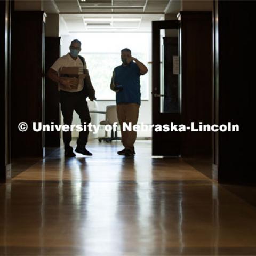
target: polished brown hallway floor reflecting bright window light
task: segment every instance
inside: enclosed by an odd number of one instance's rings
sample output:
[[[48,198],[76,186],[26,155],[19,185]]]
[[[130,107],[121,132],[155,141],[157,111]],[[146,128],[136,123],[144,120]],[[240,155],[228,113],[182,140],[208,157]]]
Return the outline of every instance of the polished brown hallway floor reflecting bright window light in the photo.
[[[0,255],[256,255],[256,207],[182,159],[88,148],[0,185]]]

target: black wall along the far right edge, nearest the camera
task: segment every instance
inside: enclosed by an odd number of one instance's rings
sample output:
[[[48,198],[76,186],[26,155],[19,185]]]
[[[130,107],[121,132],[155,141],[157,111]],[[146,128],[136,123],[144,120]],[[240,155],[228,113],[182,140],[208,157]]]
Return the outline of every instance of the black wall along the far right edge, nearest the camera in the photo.
[[[215,164],[220,183],[256,183],[253,169],[255,1],[215,1],[215,122],[240,125],[219,132]]]

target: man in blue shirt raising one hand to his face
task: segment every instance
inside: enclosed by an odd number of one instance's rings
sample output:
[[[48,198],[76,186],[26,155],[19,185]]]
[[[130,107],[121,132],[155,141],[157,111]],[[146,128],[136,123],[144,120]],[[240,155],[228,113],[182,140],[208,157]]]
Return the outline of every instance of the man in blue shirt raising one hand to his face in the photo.
[[[116,92],[117,117],[121,125],[122,143],[124,149],[118,155],[133,156],[134,143],[137,137],[135,131],[123,131],[123,123],[137,124],[140,108],[140,75],[148,72],[147,67],[131,56],[131,50],[121,51],[123,64],[113,71],[110,89]]]

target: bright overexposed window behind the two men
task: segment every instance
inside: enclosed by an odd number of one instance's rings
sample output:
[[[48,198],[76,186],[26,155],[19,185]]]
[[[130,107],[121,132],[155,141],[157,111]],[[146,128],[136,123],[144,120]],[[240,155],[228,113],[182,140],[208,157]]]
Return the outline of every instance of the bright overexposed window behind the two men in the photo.
[[[121,50],[129,48],[132,56],[146,66],[149,57],[149,33],[85,33],[81,38],[82,51],[97,100],[115,100],[115,92],[110,90],[113,70],[122,64]],[[141,100],[148,100],[148,74],[140,77]]]

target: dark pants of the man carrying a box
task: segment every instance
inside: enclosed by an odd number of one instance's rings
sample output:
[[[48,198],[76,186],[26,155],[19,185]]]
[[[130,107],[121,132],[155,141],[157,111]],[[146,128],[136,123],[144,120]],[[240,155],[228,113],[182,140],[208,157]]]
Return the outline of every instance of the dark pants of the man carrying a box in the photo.
[[[78,114],[82,125],[84,125],[84,122],[86,122],[87,124],[91,122],[87,101],[82,91],[66,92],[60,90],[60,108],[63,115],[64,124],[72,124],[74,110]],[[71,131],[63,131],[62,134],[65,150],[71,150],[71,147],[69,145],[72,138]],[[79,137],[76,141],[77,147],[85,147],[85,145],[87,144],[88,135],[89,131],[79,132]]]

